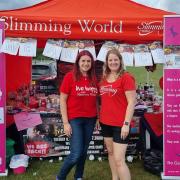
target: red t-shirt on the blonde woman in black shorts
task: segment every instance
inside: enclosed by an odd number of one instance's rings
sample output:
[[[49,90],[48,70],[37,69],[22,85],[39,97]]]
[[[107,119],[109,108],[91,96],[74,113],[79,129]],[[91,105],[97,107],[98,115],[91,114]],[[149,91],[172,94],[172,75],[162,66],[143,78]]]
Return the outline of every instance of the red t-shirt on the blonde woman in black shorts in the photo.
[[[100,122],[106,125],[122,127],[128,105],[125,91],[135,89],[135,80],[127,72],[115,82],[109,83],[106,80],[101,82]]]

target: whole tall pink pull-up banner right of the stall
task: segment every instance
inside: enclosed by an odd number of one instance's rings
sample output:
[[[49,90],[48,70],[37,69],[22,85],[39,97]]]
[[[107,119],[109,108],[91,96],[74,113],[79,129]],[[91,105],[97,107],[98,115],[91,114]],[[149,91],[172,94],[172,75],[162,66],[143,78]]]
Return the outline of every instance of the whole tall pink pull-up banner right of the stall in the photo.
[[[164,178],[180,179],[180,16],[164,17]]]

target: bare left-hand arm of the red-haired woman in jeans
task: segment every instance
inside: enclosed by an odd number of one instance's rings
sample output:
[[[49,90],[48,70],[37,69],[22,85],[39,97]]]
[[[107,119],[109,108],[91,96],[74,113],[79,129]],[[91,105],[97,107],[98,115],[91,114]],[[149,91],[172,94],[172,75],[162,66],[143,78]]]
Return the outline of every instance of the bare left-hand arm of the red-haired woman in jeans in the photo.
[[[60,111],[62,115],[62,121],[64,125],[64,133],[67,136],[71,136],[72,129],[68,121],[68,114],[67,114],[67,98],[68,94],[62,93],[60,94]]]

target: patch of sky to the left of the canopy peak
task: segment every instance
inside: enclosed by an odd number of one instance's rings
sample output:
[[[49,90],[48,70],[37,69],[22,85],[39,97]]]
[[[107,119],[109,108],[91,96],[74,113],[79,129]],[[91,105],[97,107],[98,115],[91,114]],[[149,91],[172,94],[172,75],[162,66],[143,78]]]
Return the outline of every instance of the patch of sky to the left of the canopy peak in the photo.
[[[46,0],[0,0],[0,10],[20,9]]]

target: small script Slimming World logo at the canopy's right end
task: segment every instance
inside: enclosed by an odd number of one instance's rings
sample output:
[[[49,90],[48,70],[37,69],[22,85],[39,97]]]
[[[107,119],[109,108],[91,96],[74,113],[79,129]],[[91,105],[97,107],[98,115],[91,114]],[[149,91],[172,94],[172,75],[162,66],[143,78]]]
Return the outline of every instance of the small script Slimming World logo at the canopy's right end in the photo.
[[[151,21],[151,22],[141,22],[141,25],[137,27],[140,36],[146,36],[153,32],[158,34],[163,33],[163,23],[162,21]]]

